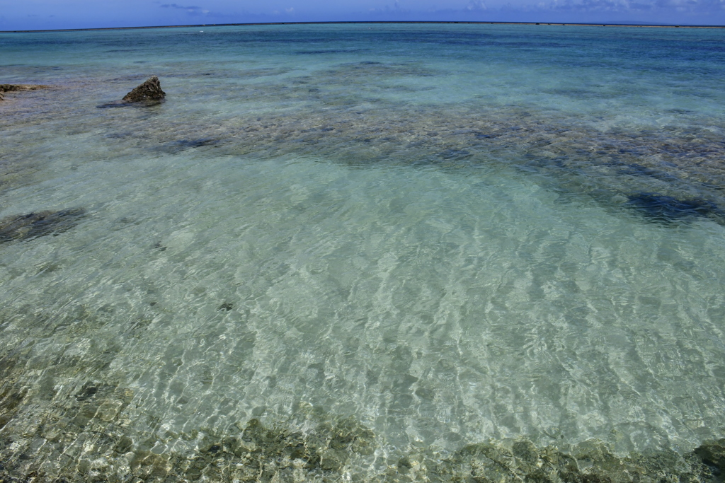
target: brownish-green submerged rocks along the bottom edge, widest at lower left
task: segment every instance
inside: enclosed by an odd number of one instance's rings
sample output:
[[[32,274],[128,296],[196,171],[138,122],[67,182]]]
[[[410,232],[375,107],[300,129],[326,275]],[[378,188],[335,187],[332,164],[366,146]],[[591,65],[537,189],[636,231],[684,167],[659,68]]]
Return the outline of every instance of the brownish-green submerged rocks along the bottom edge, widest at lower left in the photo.
[[[67,319],[94,321],[86,308]],[[721,483],[725,469],[725,439],[684,454],[622,455],[600,440],[543,446],[525,437],[452,453],[389,452],[354,416],[305,403],[289,421],[252,418],[222,431],[157,431],[161,420],[149,414],[151,427],[137,433],[133,390],[112,379],[30,387],[22,378],[29,358],[29,349],[0,356],[0,427],[9,427],[0,432],[0,482]],[[43,387],[44,398],[28,397]]]

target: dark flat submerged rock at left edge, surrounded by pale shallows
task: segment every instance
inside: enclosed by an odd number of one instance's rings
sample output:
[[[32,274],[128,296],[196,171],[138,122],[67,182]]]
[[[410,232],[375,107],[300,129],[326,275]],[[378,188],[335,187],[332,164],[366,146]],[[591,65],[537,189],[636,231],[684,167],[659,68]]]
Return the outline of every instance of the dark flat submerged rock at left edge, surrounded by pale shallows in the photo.
[[[65,232],[74,227],[85,214],[86,210],[73,208],[7,217],[0,220],[0,243]]]

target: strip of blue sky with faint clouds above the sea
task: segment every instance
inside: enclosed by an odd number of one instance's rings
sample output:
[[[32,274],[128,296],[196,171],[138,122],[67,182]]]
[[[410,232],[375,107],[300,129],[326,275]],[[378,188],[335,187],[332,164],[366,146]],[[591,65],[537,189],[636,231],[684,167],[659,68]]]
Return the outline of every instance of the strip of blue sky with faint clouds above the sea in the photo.
[[[0,0],[0,30],[335,20],[725,25],[725,0]]]

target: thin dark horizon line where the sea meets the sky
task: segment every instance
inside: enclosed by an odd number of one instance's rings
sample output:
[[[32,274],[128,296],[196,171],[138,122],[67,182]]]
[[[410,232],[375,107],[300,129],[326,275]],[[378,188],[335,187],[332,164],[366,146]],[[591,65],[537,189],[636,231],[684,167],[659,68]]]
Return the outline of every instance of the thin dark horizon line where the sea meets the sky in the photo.
[[[241,22],[241,23],[204,23],[190,25],[141,25],[135,27],[92,27],[92,28],[46,28],[38,30],[0,30],[0,33],[41,33],[41,32],[85,32],[91,30],[133,30],[149,28],[198,28],[198,27],[244,27],[259,25],[325,25],[325,24],[480,24],[480,25],[560,25],[571,27],[637,27],[637,28],[725,28],[725,25],[674,25],[674,24],[638,24],[605,22],[494,22],[473,20],[332,20],[323,22]]]

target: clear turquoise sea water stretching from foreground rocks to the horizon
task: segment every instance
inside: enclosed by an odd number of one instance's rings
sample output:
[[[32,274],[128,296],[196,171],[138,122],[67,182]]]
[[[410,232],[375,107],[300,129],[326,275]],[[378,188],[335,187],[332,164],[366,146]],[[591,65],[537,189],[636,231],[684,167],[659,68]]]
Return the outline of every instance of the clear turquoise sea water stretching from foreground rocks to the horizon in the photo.
[[[0,245],[4,468],[193,476],[255,418],[322,441],[257,479],[725,436],[722,35],[1,35],[53,87],[0,104],[0,217],[84,213]]]

